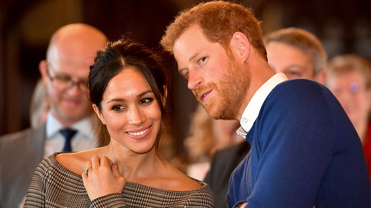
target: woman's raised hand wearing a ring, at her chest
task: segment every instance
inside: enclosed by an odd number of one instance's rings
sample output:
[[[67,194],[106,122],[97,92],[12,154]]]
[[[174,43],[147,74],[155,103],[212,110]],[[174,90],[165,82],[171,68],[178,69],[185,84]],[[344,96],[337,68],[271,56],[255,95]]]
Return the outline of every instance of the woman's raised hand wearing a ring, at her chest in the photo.
[[[91,201],[107,194],[119,193],[124,190],[126,180],[116,165],[106,156],[93,156],[85,162],[82,181]]]

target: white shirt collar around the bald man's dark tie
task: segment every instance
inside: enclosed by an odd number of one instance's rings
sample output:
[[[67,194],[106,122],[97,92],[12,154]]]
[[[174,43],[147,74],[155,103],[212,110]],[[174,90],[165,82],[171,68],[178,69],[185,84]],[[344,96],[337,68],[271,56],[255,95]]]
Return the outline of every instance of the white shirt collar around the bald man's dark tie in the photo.
[[[95,130],[93,129],[92,117],[86,117],[73,124],[70,128],[77,130],[79,134],[83,134],[86,137],[93,137],[95,135]],[[62,123],[60,123],[49,111],[46,120],[46,136],[47,138],[52,137],[57,134],[60,130],[65,128]]]

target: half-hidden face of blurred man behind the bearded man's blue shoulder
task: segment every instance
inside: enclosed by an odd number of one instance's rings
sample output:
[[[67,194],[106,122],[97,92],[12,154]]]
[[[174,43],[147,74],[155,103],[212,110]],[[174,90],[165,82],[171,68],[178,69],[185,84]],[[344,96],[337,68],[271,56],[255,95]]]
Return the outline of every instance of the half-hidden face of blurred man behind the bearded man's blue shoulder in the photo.
[[[311,56],[297,47],[284,43],[270,42],[266,45],[268,64],[277,73],[284,73],[287,78],[315,78]]]

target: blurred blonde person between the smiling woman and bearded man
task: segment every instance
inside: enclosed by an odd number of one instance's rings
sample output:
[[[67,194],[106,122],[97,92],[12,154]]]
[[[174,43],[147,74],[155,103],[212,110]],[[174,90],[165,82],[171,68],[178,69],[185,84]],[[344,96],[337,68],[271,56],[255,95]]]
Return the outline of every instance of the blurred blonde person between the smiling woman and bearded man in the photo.
[[[236,134],[239,125],[235,120],[211,118],[198,104],[190,123],[189,136],[184,140],[187,152],[184,172],[190,177],[204,180],[215,152],[243,141]]]

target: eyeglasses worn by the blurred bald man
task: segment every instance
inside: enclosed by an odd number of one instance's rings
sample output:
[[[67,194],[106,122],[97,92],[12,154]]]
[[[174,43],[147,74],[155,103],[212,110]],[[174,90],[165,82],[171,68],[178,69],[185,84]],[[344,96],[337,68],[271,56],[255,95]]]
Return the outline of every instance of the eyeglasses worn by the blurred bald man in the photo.
[[[47,64],[49,64],[49,61],[47,61]],[[48,68],[48,74],[50,81],[52,81],[52,84],[55,87],[58,87],[60,89],[69,89],[72,88],[73,86],[77,85],[80,90],[85,91],[86,86],[88,85],[88,80],[79,80],[79,81],[74,81],[70,76],[66,75],[55,75],[55,76],[50,76],[49,68]]]

